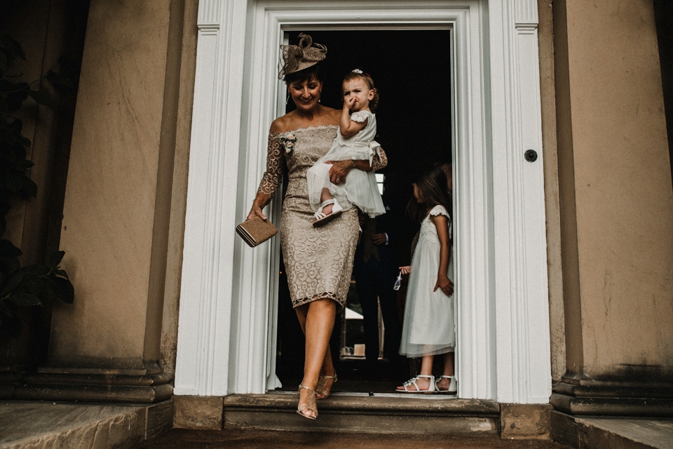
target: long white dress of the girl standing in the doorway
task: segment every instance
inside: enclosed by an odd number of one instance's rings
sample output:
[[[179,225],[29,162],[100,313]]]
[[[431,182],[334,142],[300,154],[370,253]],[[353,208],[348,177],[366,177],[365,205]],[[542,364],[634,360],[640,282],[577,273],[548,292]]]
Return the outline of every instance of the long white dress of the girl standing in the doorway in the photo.
[[[435,206],[421,223],[419,243],[412,259],[409,273],[405,321],[402,324],[400,354],[420,357],[444,354],[456,347],[454,324],[454,295],[447,296],[441,288],[433,292],[440,267],[440,239],[437,227],[430,221],[430,215],[446,215],[444,206]],[[449,236],[452,225],[449,217]],[[447,276],[454,281],[454,250],[449,251]]]

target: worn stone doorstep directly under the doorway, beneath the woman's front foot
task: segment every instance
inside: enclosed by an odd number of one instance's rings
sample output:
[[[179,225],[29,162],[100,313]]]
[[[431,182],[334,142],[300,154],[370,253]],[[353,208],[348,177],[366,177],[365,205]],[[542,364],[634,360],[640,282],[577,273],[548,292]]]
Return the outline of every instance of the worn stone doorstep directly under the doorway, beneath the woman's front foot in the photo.
[[[299,417],[297,394],[224,397],[224,429],[497,436],[500,404],[451,396],[334,393],[318,420]]]

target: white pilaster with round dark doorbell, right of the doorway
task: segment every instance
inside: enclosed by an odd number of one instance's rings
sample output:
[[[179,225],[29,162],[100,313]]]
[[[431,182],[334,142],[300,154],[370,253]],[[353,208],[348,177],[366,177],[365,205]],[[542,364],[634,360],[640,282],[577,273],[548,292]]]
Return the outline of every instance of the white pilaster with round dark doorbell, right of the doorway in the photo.
[[[497,401],[551,394],[537,4],[490,4]],[[526,150],[537,154],[524,159]]]

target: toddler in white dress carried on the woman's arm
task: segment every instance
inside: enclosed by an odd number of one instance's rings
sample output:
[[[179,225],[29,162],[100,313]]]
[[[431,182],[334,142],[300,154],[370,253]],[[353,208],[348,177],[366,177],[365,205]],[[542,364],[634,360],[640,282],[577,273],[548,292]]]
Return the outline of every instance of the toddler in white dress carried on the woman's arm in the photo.
[[[326,225],[341,215],[341,212],[358,206],[369,217],[386,213],[372,171],[351,170],[343,183],[333,184],[329,180],[329,168],[333,161],[368,160],[379,152],[376,136],[376,110],[379,94],[374,80],[362,70],[355,69],[344,77],[341,85],[344,91],[344,109],[337,138],[329,152],[315,162],[306,172],[308,200],[315,210],[313,226]],[[352,114],[349,115],[349,112]]]

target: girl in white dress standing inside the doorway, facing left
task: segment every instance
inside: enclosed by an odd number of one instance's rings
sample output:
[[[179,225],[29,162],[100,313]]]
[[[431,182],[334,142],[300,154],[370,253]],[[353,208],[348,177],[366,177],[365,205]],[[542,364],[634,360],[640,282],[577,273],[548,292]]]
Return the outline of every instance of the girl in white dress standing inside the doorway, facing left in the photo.
[[[414,182],[414,198],[415,203],[409,206],[420,207],[424,218],[412,265],[400,267],[402,273],[409,273],[400,354],[421,356],[421,374],[396,391],[456,394],[451,196],[441,167],[433,166]],[[444,354],[444,375],[435,382],[433,360],[437,354]]]

